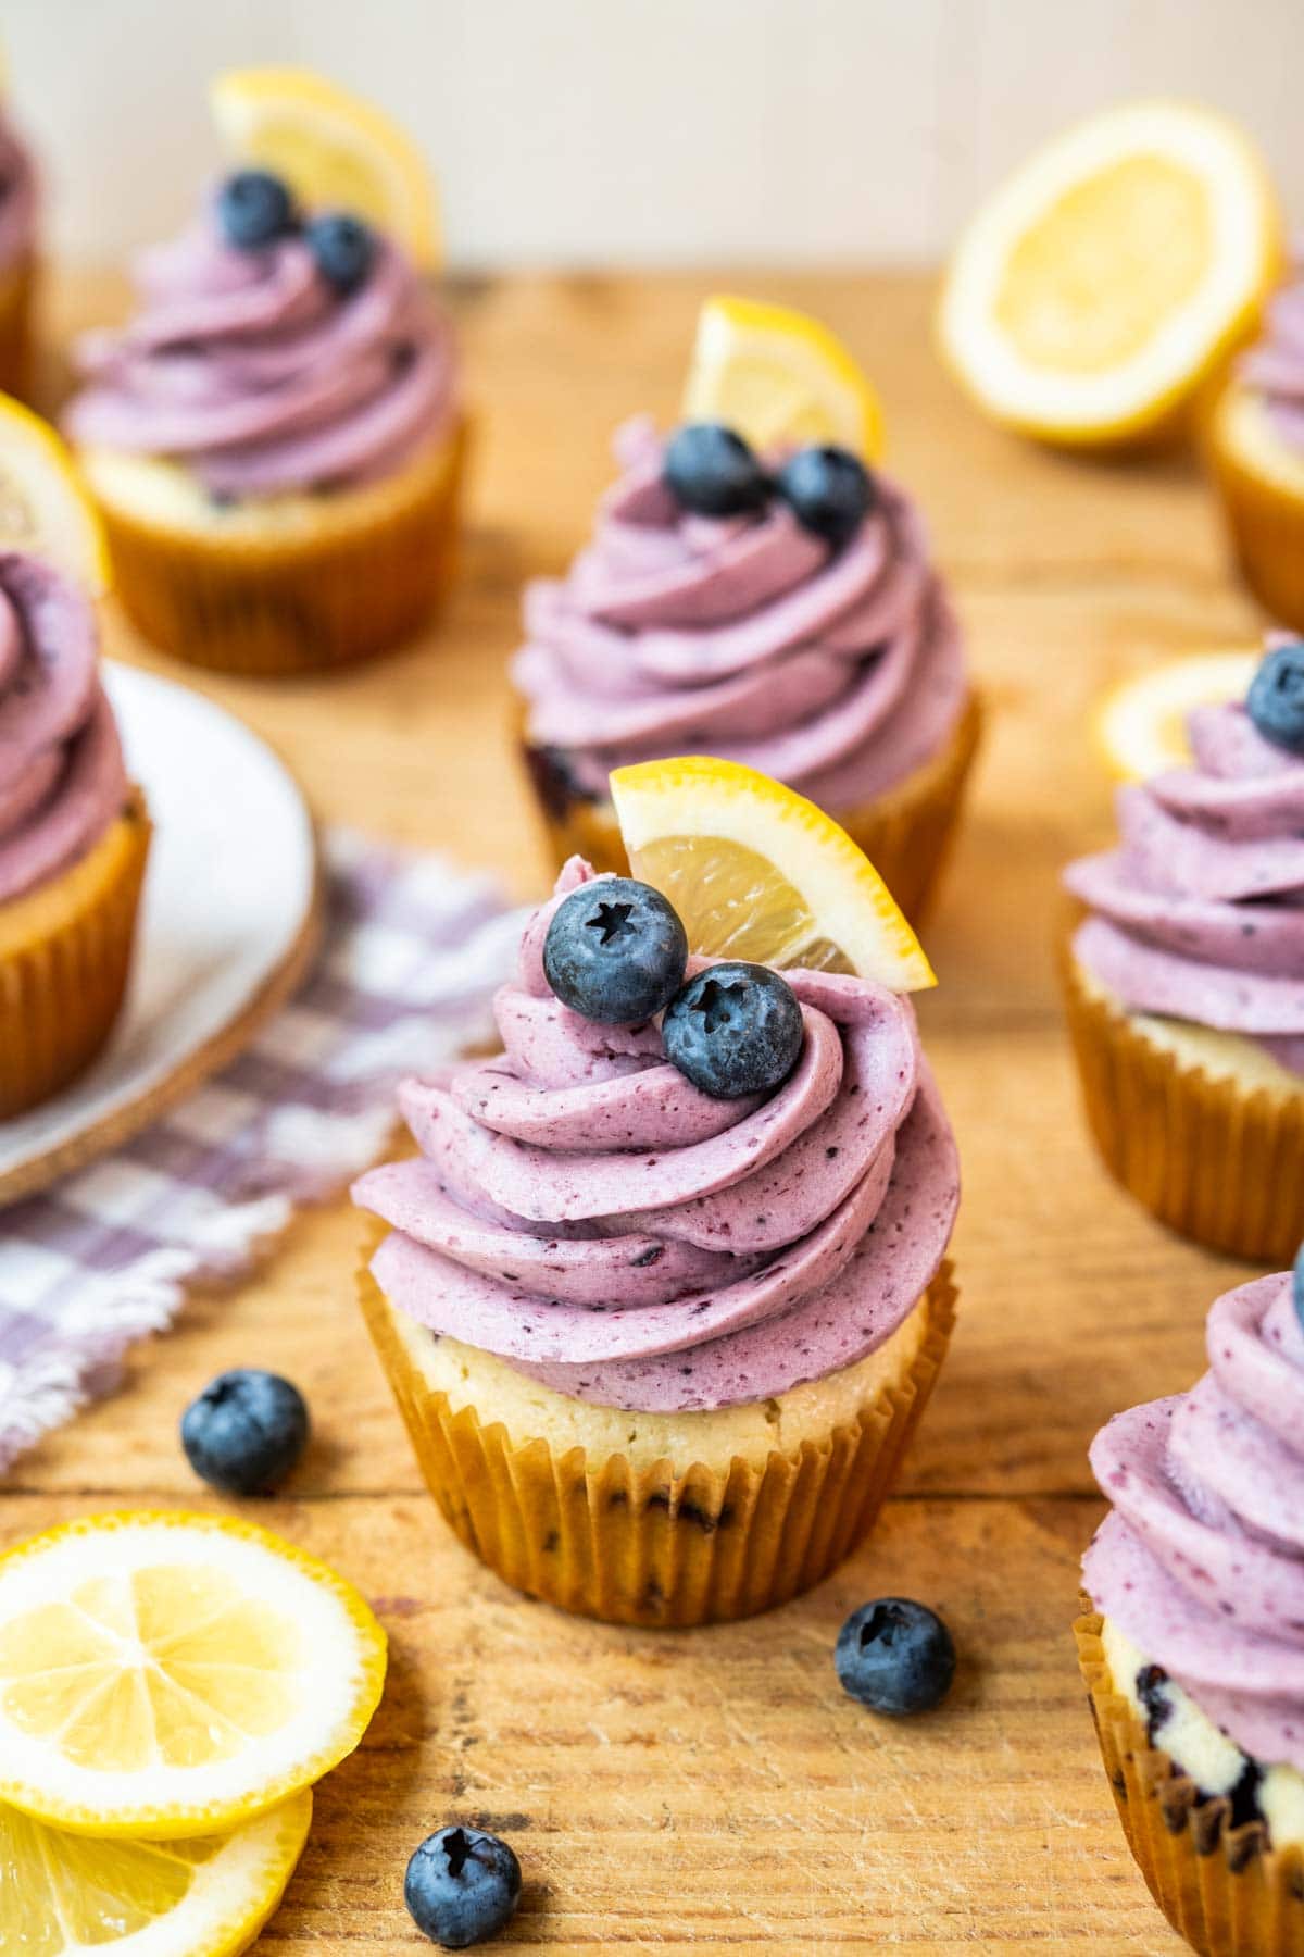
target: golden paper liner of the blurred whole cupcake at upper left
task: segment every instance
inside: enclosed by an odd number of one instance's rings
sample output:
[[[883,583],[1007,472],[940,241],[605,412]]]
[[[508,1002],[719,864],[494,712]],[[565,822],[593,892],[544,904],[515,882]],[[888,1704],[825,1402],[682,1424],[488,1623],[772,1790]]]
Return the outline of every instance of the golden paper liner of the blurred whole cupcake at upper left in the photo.
[[[358,491],[305,538],[168,530],[100,503],[117,597],[162,652],[219,673],[311,673],[411,638],[456,569],[465,423],[399,499]],[[348,495],[348,491],[344,491]]]

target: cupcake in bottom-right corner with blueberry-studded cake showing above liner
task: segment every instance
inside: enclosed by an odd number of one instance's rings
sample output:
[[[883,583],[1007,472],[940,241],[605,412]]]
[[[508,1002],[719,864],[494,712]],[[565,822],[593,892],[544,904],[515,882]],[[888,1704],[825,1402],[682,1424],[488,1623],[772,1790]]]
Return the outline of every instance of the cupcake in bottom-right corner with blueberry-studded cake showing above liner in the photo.
[[[1150,1890],[1202,1957],[1304,1953],[1304,1284],[1218,1299],[1210,1372],[1120,1413],[1077,1622]]]

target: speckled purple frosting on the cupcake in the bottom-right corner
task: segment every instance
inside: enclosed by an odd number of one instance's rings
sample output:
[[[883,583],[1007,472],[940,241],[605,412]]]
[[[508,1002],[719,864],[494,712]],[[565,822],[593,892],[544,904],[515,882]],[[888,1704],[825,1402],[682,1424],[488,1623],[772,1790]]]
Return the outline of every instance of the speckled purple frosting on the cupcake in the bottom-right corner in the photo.
[[[1304,1771],[1304,1329],[1290,1274],[1220,1297],[1206,1346],[1198,1386],[1095,1438],[1114,1507],[1087,1589],[1243,1752]]]

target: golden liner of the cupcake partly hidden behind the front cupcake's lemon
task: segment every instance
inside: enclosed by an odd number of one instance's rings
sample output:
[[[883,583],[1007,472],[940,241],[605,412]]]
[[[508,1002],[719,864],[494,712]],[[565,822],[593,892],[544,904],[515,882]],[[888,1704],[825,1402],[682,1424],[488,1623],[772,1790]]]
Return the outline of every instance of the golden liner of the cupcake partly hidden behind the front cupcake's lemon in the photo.
[[[524,712],[520,722],[524,726]],[[981,730],[981,701],[972,693],[946,748],[927,767],[872,802],[831,810],[911,924],[925,916],[950,851]],[[628,877],[630,863],[612,804],[579,795],[549,750],[526,742],[524,753],[557,869],[567,857],[583,855],[596,871]]]

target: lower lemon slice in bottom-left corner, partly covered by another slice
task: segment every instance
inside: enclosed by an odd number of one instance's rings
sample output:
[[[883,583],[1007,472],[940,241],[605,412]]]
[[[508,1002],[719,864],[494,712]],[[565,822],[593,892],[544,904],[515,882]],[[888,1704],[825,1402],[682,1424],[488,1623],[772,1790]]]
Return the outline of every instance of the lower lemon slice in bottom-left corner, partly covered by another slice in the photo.
[[[229,1836],[90,1842],[0,1808],[0,1957],[239,1957],[285,1894],[311,1818],[303,1793]]]

